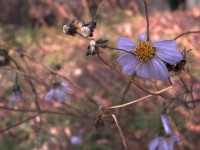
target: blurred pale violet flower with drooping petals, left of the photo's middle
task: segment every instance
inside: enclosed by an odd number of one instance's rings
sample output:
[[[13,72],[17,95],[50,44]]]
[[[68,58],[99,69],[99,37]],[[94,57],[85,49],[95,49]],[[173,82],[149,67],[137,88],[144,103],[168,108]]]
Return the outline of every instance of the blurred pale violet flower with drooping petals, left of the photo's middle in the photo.
[[[66,92],[72,92],[72,89],[68,86],[67,83],[55,83],[54,88],[45,95],[45,101],[55,99],[58,102],[64,102],[68,98]]]

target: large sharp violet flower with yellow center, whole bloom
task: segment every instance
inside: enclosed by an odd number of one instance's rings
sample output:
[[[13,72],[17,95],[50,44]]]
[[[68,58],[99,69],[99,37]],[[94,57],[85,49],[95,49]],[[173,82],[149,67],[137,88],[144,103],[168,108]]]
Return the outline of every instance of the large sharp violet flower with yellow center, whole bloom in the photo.
[[[166,80],[168,70],[165,63],[173,65],[183,59],[175,40],[150,42],[143,34],[139,36],[138,43],[120,37],[117,45],[119,49],[128,52],[117,59],[122,66],[122,72],[127,75],[136,72],[139,77]]]

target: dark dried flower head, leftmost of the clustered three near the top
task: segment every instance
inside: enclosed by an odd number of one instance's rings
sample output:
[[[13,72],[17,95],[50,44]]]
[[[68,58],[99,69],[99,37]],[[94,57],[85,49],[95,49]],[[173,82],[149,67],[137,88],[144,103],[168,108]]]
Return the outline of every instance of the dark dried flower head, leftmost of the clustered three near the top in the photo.
[[[78,28],[77,28],[77,25],[75,24],[75,19],[69,21],[66,25],[63,26],[63,32],[71,36],[76,35],[77,29]]]

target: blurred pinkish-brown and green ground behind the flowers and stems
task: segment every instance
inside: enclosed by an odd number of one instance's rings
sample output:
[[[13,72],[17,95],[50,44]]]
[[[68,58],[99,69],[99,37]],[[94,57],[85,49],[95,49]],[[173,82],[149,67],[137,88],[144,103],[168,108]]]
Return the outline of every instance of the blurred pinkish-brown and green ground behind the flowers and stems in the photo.
[[[64,113],[54,115],[46,112],[40,117],[2,132],[0,149],[123,149],[112,118],[104,120],[104,128],[95,129],[95,118],[100,111],[98,106],[88,100],[87,95],[97,104],[108,107],[129,102],[146,94],[133,85],[122,101],[121,97],[128,82],[105,66],[96,56],[85,56],[89,41],[81,37],[66,36],[62,32],[62,26],[71,19],[90,21],[100,3],[100,0],[0,0],[0,45],[8,47],[9,55],[33,78],[41,108]],[[186,31],[200,30],[200,0],[147,0],[147,3],[152,41],[172,39]],[[141,0],[106,0],[96,20],[94,38],[107,39],[113,47],[116,47],[120,36],[136,39],[139,34],[146,32],[144,5]],[[194,99],[198,101],[200,34],[181,37],[177,42],[181,50],[185,46],[192,49],[187,56],[187,64],[195,83]],[[31,59],[22,57],[21,53],[31,56]],[[103,50],[103,57],[120,69],[116,62],[118,56],[117,51]],[[16,111],[35,109],[34,94],[23,74],[19,75],[18,84],[24,100],[9,100],[15,82],[16,70],[13,66],[12,64],[0,68],[0,129],[35,114]],[[53,68],[62,77],[44,66]],[[186,83],[190,84],[191,78],[186,71],[182,72],[182,76],[188,81]],[[55,80],[68,82],[74,89],[66,104],[44,101],[45,93],[52,88]],[[138,78],[137,84],[151,89],[154,83]],[[167,87],[163,82],[157,84],[162,89]],[[184,92],[179,84],[165,94],[176,97],[180,94],[177,91]],[[112,112],[118,118],[130,150],[148,148],[149,142],[161,126],[163,102],[168,101],[162,97],[153,97]],[[178,146],[181,150],[200,149],[198,102],[196,109],[191,110],[180,105],[173,112],[174,130],[181,137]],[[12,108],[13,111],[5,107]]]

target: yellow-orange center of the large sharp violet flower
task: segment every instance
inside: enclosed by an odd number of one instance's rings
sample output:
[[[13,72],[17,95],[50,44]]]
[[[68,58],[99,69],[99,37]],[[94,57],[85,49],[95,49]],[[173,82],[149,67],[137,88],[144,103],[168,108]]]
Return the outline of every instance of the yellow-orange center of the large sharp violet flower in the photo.
[[[154,56],[154,48],[147,41],[139,42],[135,48],[135,56],[142,61],[148,61]]]

